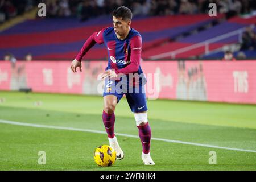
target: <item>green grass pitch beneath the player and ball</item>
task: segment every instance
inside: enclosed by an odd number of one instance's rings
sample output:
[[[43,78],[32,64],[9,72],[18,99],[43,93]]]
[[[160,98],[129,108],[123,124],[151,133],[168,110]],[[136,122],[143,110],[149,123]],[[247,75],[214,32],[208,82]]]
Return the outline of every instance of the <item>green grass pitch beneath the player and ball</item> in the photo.
[[[41,104],[35,105],[39,101]],[[101,144],[108,144],[107,135],[65,129],[105,131],[102,106],[100,96],[0,92],[0,170],[256,169],[255,105],[148,100],[152,137],[168,141],[151,140],[151,156],[156,165],[144,166],[141,142],[133,137],[138,136],[134,116],[122,98],[115,111],[115,133],[121,134],[117,138],[125,158],[111,167],[98,167],[93,152]],[[39,151],[46,152],[45,165],[38,164]],[[209,164],[210,151],[216,152],[217,164]]]

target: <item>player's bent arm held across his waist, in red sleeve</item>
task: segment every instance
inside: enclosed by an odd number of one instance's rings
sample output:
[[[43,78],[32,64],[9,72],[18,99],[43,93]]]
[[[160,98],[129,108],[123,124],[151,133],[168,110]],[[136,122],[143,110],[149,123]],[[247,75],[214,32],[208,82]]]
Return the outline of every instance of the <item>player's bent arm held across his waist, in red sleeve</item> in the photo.
[[[102,74],[102,80],[104,80],[106,77],[117,77],[119,73],[123,74],[129,74],[137,72],[139,69],[139,64],[141,62],[141,49],[142,49],[142,39],[141,36],[134,36],[131,38],[130,41],[130,48],[131,48],[131,63],[127,65],[125,68],[117,69],[115,71],[112,71],[110,69],[106,70]]]

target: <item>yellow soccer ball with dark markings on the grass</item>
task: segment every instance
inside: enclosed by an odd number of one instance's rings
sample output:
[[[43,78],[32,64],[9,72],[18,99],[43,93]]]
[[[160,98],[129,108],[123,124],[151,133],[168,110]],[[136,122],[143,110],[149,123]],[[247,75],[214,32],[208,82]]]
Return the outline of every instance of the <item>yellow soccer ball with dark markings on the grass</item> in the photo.
[[[115,163],[117,154],[108,145],[102,145],[96,148],[94,152],[94,161],[98,166],[112,166]]]

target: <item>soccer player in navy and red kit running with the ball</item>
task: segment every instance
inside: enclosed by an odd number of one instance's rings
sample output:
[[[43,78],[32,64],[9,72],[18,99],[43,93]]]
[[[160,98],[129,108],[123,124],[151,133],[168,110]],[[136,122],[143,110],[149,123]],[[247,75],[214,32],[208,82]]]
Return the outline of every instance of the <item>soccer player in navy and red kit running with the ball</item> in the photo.
[[[117,152],[117,159],[123,159],[123,151],[114,134],[114,111],[123,94],[126,94],[127,102],[131,111],[134,113],[136,125],[139,130],[139,138],[141,139],[143,149],[143,163],[145,165],[154,165],[155,163],[150,156],[151,128],[147,120],[147,101],[142,83],[143,79],[139,79],[137,84],[134,83],[133,79],[133,89],[128,89],[127,92],[123,92],[123,89],[120,92],[117,89],[117,84],[121,80],[119,78],[118,81],[117,77],[119,75],[125,75],[127,79],[129,74],[137,73],[137,75],[143,75],[140,66],[142,38],[138,31],[130,28],[132,13],[129,8],[125,6],[118,7],[118,9],[113,11],[112,15],[114,26],[94,32],[86,40],[76,59],[72,61],[71,69],[73,72],[77,72],[76,68],[79,67],[81,72],[81,60],[86,52],[96,43],[105,43],[108,49],[108,67],[106,67],[106,71],[101,75],[102,80],[105,80],[102,120],[106,133],[108,134],[109,144]],[[127,81],[127,85],[130,85],[129,82],[130,80]],[[123,86],[123,88],[125,87]],[[135,91],[136,88],[139,88],[139,92]]]

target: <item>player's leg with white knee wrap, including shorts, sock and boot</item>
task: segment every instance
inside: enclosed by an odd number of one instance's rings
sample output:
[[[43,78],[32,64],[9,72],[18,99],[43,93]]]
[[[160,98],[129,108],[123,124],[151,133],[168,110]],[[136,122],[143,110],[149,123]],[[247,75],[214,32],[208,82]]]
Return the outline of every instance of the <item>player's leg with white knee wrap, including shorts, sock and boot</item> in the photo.
[[[134,113],[139,138],[142,143],[142,160],[145,165],[155,165],[150,156],[151,127],[147,119],[147,100],[144,93],[126,94],[127,102]]]

